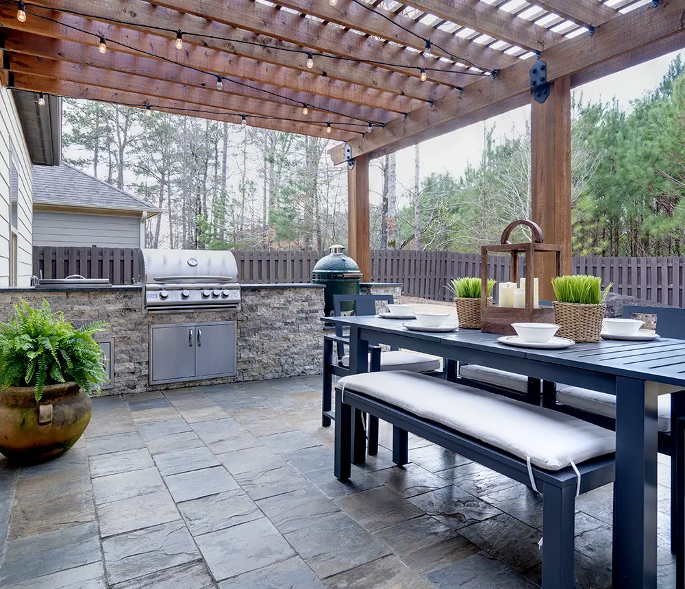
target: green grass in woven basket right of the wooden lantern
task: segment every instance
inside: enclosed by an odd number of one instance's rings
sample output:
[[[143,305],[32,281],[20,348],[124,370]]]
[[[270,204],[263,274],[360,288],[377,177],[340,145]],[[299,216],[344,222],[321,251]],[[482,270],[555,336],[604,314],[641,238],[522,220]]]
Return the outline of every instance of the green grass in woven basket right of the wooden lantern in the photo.
[[[612,284],[601,289],[598,276],[559,276],[552,279],[554,321],[557,335],[575,342],[599,342],[606,312],[606,295]]]

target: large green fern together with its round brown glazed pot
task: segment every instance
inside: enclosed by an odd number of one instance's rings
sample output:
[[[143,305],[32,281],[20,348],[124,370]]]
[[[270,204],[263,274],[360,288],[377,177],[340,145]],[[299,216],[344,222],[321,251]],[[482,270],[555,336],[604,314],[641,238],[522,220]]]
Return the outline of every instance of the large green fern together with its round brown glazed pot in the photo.
[[[0,452],[30,464],[69,450],[92,415],[88,394],[107,375],[92,336],[103,322],[79,329],[53,313],[47,301],[34,309],[21,301],[0,323]]]

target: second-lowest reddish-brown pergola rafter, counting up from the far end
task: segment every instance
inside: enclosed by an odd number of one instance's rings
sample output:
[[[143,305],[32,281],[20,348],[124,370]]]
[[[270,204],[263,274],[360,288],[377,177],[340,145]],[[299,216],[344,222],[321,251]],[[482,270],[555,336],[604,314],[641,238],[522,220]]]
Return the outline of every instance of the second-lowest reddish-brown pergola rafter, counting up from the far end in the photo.
[[[108,88],[110,90],[119,90],[120,92],[136,92],[147,97],[146,100],[153,104],[164,99],[170,99],[192,104],[194,105],[193,108],[216,110],[220,113],[221,111],[232,111],[237,114],[290,118],[301,125],[314,125],[311,121],[319,121],[319,125],[314,126],[317,129],[321,129],[322,134],[326,130],[325,123],[329,118],[326,115],[321,116],[321,114],[314,113],[310,113],[309,116],[303,116],[301,108],[277,103],[264,103],[264,101],[253,98],[235,97],[220,90],[175,84],[160,79],[149,79],[134,73],[105,70],[70,62],[44,60],[28,55],[14,54],[10,55],[10,64],[15,74],[24,73],[34,77],[62,79],[66,82],[81,84],[82,86]],[[236,123],[240,122],[239,117],[234,118],[234,120]],[[358,123],[362,125],[360,121],[350,121],[349,119],[338,117],[334,120],[334,127],[332,127],[332,131],[340,131],[336,133],[338,138],[349,138],[352,134],[360,134],[361,131],[365,130],[364,127],[345,126],[345,123]],[[331,133],[332,136],[333,134]]]

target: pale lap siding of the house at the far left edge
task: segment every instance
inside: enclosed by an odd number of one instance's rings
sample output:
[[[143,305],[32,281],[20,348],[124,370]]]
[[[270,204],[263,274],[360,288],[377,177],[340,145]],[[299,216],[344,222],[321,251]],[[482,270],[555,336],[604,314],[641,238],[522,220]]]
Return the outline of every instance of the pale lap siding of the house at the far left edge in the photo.
[[[10,286],[10,169],[14,161],[17,191],[17,286],[32,275],[32,164],[14,98],[0,86],[0,286]]]

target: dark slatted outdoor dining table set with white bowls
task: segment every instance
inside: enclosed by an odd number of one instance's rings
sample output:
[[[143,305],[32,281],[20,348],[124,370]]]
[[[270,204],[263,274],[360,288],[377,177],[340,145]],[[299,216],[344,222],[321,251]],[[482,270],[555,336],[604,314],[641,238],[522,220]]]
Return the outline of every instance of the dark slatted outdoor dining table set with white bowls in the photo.
[[[656,589],[658,395],[685,389],[685,340],[603,340],[566,349],[527,349],[473,329],[410,331],[404,321],[377,316],[326,321],[349,327],[352,374],[369,370],[369,345],[384,344],[616,394],[613,586]],[[683,393],[671,397],[675,415],[685,414],[680,410]],[[680,547],[679,565],[682,558]]]

